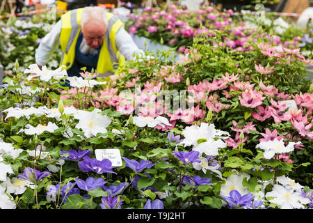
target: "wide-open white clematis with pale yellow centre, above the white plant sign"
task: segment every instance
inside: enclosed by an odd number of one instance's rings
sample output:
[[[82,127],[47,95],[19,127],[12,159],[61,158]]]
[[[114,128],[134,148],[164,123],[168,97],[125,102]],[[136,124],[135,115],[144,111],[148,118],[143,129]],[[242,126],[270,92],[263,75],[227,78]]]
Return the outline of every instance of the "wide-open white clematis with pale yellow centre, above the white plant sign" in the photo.
[[[99,109],[94,109],[93,112],[79,110],[74,118],[79,119],[76,128],[83,130],[87,138],[95,137],[97,133],[106,133],[106,127],[111,124],[111,118],[99,114]]]

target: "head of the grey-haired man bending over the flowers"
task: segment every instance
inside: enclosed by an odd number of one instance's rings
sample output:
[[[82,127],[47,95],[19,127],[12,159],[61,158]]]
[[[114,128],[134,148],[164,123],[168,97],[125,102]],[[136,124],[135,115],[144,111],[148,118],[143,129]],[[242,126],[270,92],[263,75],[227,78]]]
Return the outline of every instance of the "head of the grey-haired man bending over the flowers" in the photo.
[[[89,47],[95,49],[102,45],[106,27],[106,11],[101,7],[86,7],[81,14],[81,33]]]

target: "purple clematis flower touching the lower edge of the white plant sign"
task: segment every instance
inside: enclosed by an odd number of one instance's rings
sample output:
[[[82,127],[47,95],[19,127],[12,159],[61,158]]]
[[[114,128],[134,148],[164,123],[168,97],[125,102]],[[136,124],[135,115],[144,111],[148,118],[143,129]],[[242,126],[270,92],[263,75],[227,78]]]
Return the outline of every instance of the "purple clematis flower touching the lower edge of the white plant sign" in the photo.
[[[84,157],[83,161],[79,161],[79,168],[83,172],[93,171],[97,174],[112,173],[112,162],[109,159],[97,160],[95,158]]]

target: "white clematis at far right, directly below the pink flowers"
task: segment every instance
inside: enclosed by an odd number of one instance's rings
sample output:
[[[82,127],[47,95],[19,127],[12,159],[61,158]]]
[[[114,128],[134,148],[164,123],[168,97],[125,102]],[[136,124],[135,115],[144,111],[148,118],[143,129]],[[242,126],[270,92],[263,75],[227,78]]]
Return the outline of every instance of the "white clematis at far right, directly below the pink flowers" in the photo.
[[[271,159],[271,157],[273,157],[276,153],[289,153],[294,151],[294,145],[296,144],[301,144],[301,142],[289,142],[288,146],[284,146],[283,139],[274,139],[269,141],[261,141],[259,144],[257,144],[256,148],[261,148],[264,150],[264,157],[266,159]]]

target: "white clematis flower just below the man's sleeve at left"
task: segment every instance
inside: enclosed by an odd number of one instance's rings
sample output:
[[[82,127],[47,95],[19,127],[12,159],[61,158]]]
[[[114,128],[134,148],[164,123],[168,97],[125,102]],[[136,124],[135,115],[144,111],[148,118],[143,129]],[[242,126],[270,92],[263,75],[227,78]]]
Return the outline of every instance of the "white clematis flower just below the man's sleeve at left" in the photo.
[[[47,66],[42,66],[42,69],[38,67],[37,64],[31,64],[28,69],[24,70],[24,73],[33,73],[35,75],[29,75],[28,80],[33,79],[33,77],[39,77],[40,80],[44,82],[49,82],[50,79],[62,79],[67,77],[67,71],[62,70],[63,66],[56,70],[48,70]]]

